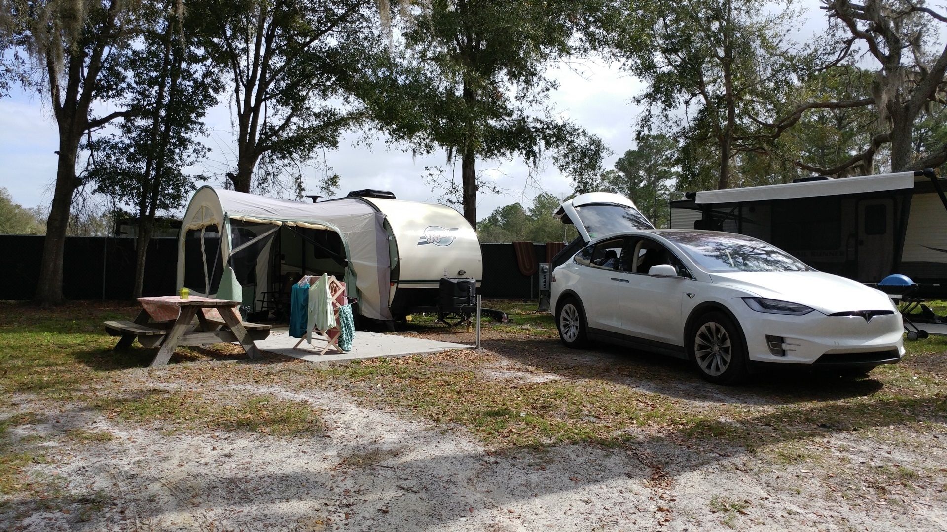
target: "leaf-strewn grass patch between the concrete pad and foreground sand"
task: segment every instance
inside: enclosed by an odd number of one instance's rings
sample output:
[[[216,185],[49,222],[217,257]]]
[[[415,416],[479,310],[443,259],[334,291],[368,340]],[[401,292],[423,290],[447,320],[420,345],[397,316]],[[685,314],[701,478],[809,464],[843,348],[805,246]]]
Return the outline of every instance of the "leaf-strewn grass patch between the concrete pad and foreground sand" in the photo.
[[[454,359],[452,369],[427,359],[383,359],[327,373],[354,383],[368,401],[463,425],[500,447],[614,445],[623,441],[616,434],[629,427],[677,427],[690,420],[675,401],[609,381],[490,379],[464,368],[463,353],[443,355]]]

